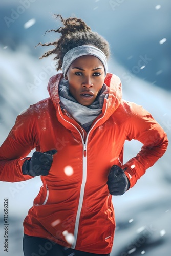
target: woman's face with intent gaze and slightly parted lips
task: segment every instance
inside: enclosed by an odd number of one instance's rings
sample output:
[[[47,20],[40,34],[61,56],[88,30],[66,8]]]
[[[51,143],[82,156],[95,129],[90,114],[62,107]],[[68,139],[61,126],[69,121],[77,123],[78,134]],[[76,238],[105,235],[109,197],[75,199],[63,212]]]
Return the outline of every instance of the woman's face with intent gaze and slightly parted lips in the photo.
[[[104,66],[97,57],[84,55],[71,63],[65,78],[74,99],[81,105],[89,106],[103,86]]]

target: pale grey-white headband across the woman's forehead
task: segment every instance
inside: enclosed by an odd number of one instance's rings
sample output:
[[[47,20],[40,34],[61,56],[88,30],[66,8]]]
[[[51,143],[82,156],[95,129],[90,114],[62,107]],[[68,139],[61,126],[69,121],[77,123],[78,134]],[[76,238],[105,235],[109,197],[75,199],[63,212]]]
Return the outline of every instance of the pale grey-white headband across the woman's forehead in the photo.
[[[71,63],[77,59],[78,57],[81,57],[83,55],[93,55],[101,60],[104,66],[105,75],[107,73],[108,64],[107,64],[107,58],[105,54],[98,48],[94,46],[77,46],[75,48],[72,48],[69,50],[66,55],[63,57],[63,63],[62,63],[62,72],[63,76],[66,76],[66,73],[71,65]]]

